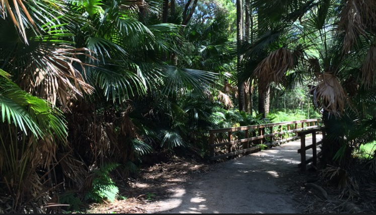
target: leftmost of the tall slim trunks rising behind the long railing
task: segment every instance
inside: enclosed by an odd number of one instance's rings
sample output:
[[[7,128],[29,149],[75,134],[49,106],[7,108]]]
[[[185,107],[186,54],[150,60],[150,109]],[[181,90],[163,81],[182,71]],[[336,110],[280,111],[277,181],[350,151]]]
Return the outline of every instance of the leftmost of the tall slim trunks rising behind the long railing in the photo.
[[[237,44],[238,49],[243,41],[243,0],[237,0]],[[238,51],[238,74],[241,72],[241,62],[243,61],[243,55]],[[244,82],[238,80],[238,101],[239,101],[239,110],[244,111],[245,107],[245,98],[244,98]]]

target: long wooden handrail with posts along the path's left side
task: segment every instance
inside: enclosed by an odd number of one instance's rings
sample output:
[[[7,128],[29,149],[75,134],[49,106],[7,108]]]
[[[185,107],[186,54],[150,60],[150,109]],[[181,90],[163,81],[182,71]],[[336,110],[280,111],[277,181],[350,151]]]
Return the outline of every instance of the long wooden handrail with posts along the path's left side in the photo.
[[[302,127],[298,128],[299,124],[302,124]],[[287,125],[287,130],[283,130],[282,126],[284,125]],[[294,125],[294,129],[291,129],[292,125]],[[320,119],[306,119],[306,120],[298,120],[298,121],[290,121],[290,122],[269,123],[269,124],[263,124],[263,125],[250,125],[250,126],[241,126],[241,127],[233,127],[233,128],[212,129],[212,130],[209,130],[210,158],[211,160],[218,160],[218,159],[232,157],[234,155],[239,155],[242,153],[254,151],[265,146],[273,147],[273,145],[279,144],[280,142],[285,142],[285,141],[299,138],[299,135],[297,135],[298,133],[305,132],[308,129],[312,130],[312,129],[318,128],[319,125],[320,125]],[[278,132],[274,132],[274,129],[273,129],[273,127],[276,127],[276,126],[278,126],[277,128]],[[272,133],[265,134],[264,128],[272,128],[272,131],[271,131]],[[250,132],[250,130],[253,130],[253,131]],[[245,131],[245,138],[239,138],[237,140],[233,140],[234,132],[237,132],[237,131]],[[257,135],[256,135],[256,132],[258,133]],[[219,142],[215,144],[214,142],[215,134],[217,133],[227,133],[227,136],[228,136],[227,141]],[[252,133],[254,133],[254,135],[251,135]],[[296,135],[281,139],[283,137],[283,134],[286,134],[286,133],[294,133]],[[271,137],[273,142],[264,144],[266,137]],[[280,139],[278,139],[278,137]],[[252,142],[253,144],[250,144],[250,142]],[[233,150],[233,146],[238,145],[238,144],[243,144],[242,147],[239,147],[243,149],[238,150],[238,151]],[[228,147],[227,154],[215,156],[215,148],[226,147],[226,146]]]

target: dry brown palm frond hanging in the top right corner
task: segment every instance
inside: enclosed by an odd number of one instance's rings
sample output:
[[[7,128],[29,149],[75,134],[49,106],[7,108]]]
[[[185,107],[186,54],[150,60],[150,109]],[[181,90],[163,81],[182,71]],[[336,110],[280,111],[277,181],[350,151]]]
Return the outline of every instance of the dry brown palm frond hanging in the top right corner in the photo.
[[[348,0],[341,12],[340,27],[346,32],[344,51],[356,45],[359,35],[367,36],[366,31],[376,25],[376,1]]]

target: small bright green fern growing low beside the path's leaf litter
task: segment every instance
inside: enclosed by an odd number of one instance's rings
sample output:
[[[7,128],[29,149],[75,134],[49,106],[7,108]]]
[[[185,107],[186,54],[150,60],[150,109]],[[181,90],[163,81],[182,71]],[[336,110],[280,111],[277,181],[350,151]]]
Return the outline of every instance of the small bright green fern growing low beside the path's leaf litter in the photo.
[[[119,188],[110,176],[110,172],[119,167],[119,164],[105,164],[101,168],[94,170],[93,189],[86,194],[86,200],[92,199],[101,202],[107,199],[114,202],[119,194]]]

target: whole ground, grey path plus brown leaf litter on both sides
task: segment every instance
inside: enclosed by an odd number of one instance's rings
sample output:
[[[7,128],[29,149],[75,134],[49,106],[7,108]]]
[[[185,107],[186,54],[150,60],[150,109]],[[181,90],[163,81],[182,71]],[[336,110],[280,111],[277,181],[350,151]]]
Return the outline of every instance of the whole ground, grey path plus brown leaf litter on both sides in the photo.
[[[128,197],[92,205],[96,213],[374,213],[376,184],[342,196],[322,172],[297,168],[299,141],[216,164],[172,157],[143,168]],[[329,168],[330,169],[330,168]],[[334,172],[335,170],[333,170]],[[329,170],[326,172],[330,175]],[[308,186],[313,183],[314,186]],[[351,185],[351,182],[348,182]],[[351,188],[351,186],[350,186]],[[354,187],[353,187],[354,188]],[[343,190],[343,189],[342,189]],[[351,191],[351,189],[348,189]],[[355,188],[354,188],[355,190]],[[327,195],[325,195],[327,194]],[[348,194],[348,193],[346,193]],[[345,195],[348,196],[348,195]],[[361,196],[361,197],[359,197]]]

